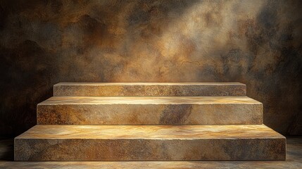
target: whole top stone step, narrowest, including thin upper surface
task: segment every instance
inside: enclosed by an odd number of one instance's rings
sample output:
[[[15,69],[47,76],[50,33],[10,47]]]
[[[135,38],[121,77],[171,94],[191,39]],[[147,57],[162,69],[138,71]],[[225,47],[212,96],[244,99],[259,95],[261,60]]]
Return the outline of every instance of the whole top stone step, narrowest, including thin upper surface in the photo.
[[[54,96],[246,96],[239,82],[61,82]]]

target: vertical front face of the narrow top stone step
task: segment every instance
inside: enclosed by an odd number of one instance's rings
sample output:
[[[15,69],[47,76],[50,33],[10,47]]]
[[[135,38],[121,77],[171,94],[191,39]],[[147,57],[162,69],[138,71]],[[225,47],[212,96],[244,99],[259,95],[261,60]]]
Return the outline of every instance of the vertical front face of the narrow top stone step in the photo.
[[[54,96],[246,96],[246,85],[54,85]]]

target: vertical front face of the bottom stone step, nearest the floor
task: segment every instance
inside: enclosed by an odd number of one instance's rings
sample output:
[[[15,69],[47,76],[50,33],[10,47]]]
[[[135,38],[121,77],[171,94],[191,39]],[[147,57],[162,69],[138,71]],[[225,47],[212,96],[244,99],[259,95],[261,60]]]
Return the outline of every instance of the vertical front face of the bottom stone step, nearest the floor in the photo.
[[[15,139],[15,161],[285,160],[284,139]]]

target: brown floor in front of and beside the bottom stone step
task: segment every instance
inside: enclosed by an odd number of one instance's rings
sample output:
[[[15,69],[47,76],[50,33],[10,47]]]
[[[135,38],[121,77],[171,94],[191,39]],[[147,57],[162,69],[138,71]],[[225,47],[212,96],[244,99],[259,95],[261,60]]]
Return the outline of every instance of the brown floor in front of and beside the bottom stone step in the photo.
[[[287,138],[286,161],[13,161],[13,139],[0,137],[0,168],[302,168],[302,137]]]

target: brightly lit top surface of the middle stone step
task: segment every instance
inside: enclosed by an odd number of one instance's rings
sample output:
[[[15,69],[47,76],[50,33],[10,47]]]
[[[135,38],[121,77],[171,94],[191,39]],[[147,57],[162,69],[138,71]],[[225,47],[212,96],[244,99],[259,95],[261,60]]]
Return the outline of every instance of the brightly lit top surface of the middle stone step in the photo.
[[[54,104],[261,104],[247,96],[53,96],[38,105]]]

